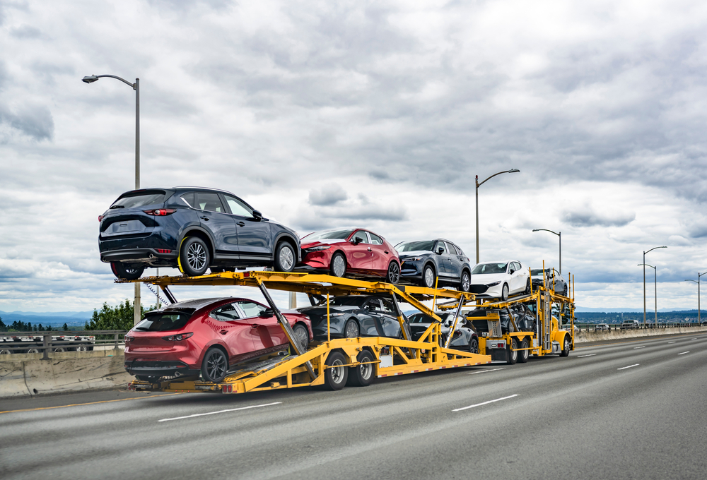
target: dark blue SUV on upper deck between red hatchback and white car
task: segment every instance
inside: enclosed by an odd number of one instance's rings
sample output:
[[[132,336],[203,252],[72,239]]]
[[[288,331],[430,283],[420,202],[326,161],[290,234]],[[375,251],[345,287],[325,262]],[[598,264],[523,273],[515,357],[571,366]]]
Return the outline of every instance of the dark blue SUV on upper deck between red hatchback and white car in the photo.
[[[451,285],[469,291],[469,258],[445,239],[402,241],[395,246],[400,258],[400,278],[434,288]]]

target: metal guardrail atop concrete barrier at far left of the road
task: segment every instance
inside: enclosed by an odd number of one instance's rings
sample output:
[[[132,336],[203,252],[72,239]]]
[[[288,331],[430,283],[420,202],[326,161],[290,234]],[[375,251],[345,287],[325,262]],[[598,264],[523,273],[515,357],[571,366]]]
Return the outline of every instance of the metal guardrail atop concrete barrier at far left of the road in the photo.
[[[81,352],[96,347],[119,349],[127,330],[69,330],[56,332],[0,332],[0,354]],[[104,348],[105,349],[105,348]]]

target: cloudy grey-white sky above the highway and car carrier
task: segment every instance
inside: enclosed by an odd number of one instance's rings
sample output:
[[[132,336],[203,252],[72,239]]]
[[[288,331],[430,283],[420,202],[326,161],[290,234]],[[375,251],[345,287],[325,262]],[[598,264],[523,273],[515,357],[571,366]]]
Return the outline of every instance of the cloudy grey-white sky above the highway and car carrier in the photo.
[[[132,297],[97,217],[134,186],[135,95],[91,74],[140,78],[142,186],[473,260],[474,175],[518,168],[479,189],[481,260],[556,265],[532,229],[559,231],[578,305],[639,308],[666,245],[658,308],[696,308],[706,31],[704,1],[0,0],[0,310]]]

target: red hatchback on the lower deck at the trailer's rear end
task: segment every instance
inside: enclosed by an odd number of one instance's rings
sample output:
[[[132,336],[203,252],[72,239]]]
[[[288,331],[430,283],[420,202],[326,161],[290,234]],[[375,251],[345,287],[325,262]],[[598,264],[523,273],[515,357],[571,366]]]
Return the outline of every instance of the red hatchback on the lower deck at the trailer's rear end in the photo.
[[[303,313],[284,313],[300,344],[312,340]],[[194,376],[220,382],[240,361],[286,349],[271,308],[248,299],[182,301],[146,313],[125,335],[125,369],[138,380]]]

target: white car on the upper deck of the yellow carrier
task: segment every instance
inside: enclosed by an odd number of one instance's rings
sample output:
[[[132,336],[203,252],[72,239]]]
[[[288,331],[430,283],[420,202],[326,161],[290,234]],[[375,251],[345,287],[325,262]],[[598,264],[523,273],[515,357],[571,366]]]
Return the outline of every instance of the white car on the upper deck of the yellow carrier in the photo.
[[[479,263],[472,269],[469,292],[492,299],[530,294],[530,270],[515,260]]]

